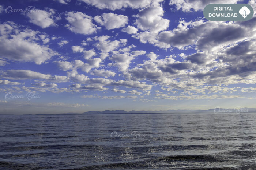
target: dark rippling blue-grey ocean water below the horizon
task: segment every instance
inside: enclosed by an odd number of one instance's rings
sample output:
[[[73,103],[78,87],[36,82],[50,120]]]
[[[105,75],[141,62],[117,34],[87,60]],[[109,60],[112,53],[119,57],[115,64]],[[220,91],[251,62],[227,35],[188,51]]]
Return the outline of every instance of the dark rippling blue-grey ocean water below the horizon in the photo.
[[[256,114],[0,115],[0,169],[256,169]]]

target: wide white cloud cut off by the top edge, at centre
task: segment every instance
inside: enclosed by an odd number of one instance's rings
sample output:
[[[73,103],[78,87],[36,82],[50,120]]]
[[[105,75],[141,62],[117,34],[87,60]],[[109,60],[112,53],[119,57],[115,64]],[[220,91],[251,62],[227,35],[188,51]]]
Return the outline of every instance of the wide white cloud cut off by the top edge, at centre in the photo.
[[[83,1],[89,5],[93,5],[99,9],[111,9],[111,10],[116,10],[116,9],[121,9],[121,8],[145,8],[151,4],[158,4],[159,2],[163,0],[80,0]]]

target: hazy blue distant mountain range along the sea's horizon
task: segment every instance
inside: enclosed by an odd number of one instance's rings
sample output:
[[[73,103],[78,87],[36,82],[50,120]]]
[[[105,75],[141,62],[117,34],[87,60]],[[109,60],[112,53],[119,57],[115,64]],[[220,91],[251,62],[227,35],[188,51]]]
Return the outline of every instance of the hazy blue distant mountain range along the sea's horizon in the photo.
[[[105,110],[105,111],[87,111],[83,114],[143,114],[143,113],[256,113],[256,108],[212,108],[208,110],[158,110],[158,111],[125,111],[125,110]]]

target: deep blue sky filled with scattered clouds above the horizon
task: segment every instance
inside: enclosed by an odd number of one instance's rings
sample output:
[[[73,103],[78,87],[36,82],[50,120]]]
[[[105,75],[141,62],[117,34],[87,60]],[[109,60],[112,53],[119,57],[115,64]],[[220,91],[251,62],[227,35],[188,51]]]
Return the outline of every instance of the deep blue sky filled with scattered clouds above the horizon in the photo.
[[[256,16],[211,3],[1,0],[0,113],[256,108]]]

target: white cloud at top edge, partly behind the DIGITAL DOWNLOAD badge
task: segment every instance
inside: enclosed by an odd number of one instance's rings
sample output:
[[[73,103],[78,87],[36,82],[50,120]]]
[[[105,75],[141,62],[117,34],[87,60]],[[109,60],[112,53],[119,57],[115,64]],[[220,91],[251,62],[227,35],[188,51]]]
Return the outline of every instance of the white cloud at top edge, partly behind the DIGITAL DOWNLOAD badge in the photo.
[[[236,4],[241,0],[226,0],[226,4]],[[207,0],[207,1],[195,1],[195,0],[170,0],[170,5],[175,5],[176,9],[181,9],[183,12],[192,12],[203,10],[208,4],[222,4],[222,0]]]

